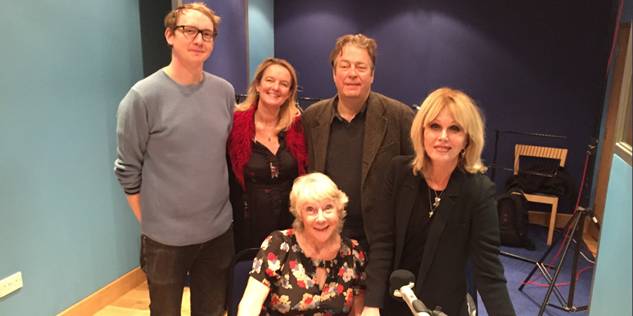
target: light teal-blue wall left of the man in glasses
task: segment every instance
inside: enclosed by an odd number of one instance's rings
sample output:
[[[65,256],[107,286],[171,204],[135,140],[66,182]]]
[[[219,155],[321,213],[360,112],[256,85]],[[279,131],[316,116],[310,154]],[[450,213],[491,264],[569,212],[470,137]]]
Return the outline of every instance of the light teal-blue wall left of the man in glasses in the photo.
[[[116,111],[142,78],[139,4],[16,1],[0,11],[0,315],[54,315],[139,265],[113,174]]]

